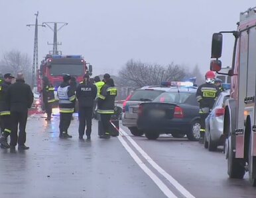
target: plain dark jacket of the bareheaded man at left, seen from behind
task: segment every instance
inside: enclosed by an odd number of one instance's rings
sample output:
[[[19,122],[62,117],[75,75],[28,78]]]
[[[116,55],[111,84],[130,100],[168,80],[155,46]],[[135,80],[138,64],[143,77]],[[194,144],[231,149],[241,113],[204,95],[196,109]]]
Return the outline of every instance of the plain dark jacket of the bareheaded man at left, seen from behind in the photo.
[[[27,112],[33,100],[31,86],[23,80],[17,80],[7,90],[6,102],[11,112]]]

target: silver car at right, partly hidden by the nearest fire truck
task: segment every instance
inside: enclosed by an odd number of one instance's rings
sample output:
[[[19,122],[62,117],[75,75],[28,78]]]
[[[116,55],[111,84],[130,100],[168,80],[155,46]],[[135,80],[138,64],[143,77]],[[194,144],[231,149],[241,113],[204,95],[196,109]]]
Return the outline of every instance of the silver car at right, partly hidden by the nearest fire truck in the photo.
[[[204,136],[204,148],[214,151],[218,146],[224,145],[225,137],[223,133],[223,122],[224,122],[224,104],[225,100],[229,98],[230,90],[225,90],[220,93],[212,112],[206,118],[206,134]]]

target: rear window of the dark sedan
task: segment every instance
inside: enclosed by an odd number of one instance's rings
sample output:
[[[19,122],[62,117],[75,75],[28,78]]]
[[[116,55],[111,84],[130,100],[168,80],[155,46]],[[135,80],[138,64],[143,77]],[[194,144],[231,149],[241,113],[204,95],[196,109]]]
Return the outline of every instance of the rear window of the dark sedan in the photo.
[[[153,102],[162,102],[162,103],[186,103],[188,98],[190,98],[192,93],[189,92],[164,92],[160,94]]]

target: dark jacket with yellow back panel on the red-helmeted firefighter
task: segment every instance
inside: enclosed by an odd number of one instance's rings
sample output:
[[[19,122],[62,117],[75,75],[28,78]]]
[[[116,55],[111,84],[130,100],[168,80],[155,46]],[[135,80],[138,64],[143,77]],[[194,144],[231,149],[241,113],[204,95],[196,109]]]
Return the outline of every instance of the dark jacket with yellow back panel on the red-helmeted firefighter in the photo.
[[[216,98],[220,94],[220,89],[215,84],[204,83],[198,87],[196,91],[196,100],[200,104],[200,109],[214,106]]]

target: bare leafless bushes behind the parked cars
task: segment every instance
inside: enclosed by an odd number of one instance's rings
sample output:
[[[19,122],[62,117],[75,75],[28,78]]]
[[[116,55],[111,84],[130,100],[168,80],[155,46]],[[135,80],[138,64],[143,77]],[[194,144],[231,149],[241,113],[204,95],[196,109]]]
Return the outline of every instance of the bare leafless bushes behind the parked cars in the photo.
[[[170,63],[162,66],[159,64],[142,63],[129,60],[125,67],[119,71],[119,77],[125,86],[142,87],[158,85],[162,81],[181,81],[187,76],[186,71],[179,65]]]

